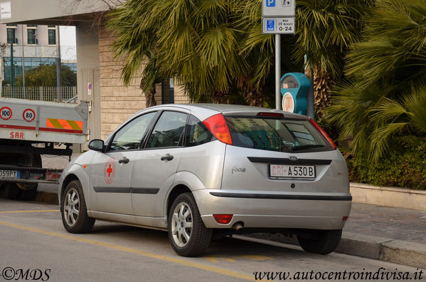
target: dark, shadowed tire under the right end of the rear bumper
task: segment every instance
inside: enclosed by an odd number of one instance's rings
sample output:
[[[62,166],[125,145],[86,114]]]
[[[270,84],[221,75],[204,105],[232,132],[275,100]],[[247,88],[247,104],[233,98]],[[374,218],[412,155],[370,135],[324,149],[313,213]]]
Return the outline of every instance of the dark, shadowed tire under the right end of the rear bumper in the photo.
[[[298,235],[297,240],[304,251],[314,254],[330,254],[339,246],[341,229],[312,231],[309,236]]]

